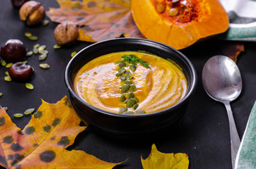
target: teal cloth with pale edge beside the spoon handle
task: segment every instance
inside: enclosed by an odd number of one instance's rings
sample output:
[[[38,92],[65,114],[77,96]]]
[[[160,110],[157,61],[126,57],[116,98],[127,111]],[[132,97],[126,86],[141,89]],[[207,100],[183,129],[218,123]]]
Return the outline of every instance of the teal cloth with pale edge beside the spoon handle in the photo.
[[[235,159],[235,169],[256,168],[256,101],[250,113],[248,123],[243,134],[238,155]]]

